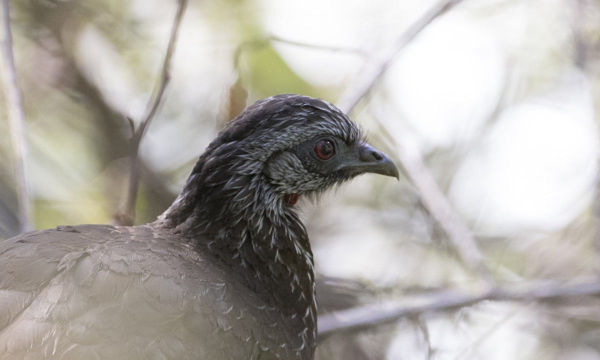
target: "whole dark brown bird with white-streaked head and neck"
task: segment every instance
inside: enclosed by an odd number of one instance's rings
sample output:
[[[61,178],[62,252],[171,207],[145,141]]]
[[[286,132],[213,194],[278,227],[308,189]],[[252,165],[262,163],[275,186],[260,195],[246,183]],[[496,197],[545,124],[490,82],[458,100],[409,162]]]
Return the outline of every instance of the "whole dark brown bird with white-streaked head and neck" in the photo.
[[[398,178],[332,104],[257,101],[153,223],[0,243],[0,359],[313,359],[313,254],[294,205],[367,172]]]

